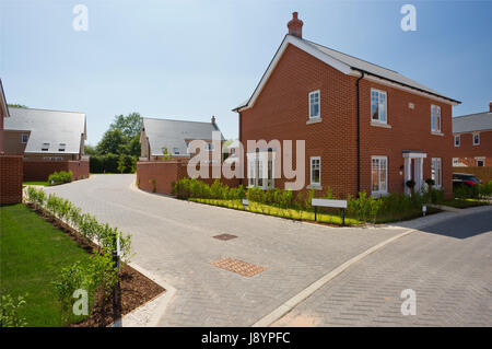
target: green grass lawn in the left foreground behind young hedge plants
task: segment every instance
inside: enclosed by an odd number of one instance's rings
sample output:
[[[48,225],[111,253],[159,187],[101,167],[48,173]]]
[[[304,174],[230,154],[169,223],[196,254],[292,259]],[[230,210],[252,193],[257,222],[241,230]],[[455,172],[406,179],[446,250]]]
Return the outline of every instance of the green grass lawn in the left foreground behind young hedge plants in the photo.
[[[51,281],[62,267],[90,255],[22,203],[0,207],[0,293],[14,299],[27,293],[20,310],[27,326],[59,326],[60,305]]]

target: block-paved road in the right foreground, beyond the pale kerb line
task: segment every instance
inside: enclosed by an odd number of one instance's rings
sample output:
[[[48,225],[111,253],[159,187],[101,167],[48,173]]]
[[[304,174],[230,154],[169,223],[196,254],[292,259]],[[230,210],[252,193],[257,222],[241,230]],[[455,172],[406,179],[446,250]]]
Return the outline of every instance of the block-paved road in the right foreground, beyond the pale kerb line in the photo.
[[[415,291],[402,316],[400,292]],[[405,236],[326,284],[277,326],[492,326],[492,212]]]

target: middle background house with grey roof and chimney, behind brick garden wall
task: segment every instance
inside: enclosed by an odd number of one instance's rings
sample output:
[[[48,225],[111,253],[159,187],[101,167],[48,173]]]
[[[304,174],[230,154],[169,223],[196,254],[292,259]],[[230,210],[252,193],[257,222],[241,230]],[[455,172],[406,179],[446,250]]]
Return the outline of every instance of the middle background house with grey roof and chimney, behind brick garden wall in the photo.
[[[211,123],[184,121],[171,119],[142,118],[142,131],[140,133],[141,158],[140,161],[157,161],[164,156],[164,149],[173,159],[189,159],[191,154],[188,146],[192,140],[207,142],[203,151],[213,151],[212,132],[219,131],[215,117]],[[221,141],[224,137],[221,133]]]

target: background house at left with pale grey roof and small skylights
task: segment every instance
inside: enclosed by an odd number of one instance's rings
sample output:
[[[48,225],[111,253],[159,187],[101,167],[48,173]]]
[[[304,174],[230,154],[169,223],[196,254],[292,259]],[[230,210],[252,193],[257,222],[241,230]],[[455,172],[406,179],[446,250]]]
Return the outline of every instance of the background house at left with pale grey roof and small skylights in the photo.
[[[58,171],[72,171],[73,179],[89,177],[84,156],[84,113],[9,107],[4,123],[5,154],[24,158],[24,181],[46,181]]]

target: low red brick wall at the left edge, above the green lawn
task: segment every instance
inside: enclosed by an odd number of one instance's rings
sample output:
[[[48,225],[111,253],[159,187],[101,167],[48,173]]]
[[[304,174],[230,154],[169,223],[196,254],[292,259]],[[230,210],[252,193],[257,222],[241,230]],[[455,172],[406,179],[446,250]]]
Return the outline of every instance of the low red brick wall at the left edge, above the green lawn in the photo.
[[[0,205],[22,202],[22,155],[0,155]]]

